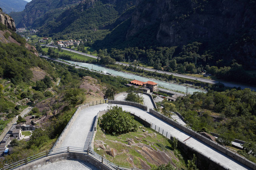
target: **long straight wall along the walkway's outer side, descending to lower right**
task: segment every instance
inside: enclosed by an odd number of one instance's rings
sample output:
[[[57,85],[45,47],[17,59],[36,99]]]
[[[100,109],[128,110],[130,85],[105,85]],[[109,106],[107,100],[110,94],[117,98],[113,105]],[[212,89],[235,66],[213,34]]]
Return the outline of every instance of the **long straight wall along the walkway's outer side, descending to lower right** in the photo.
[[[152,109],[150,109],[150,113],[154,114],[155,116],[161,118],[162,120],[168,122],[171,125],[174,125],[176,128],[179,128],[181,130],[183,130],[185,133],[188,133],[190,135],[192,135],[193,137],[199,139],[200,141],[203,141],[205,143],[207,143],[209,146],[212,146],[213,148],[215,148],[218,151],[221,151],[222,153],[230,156],[231,158],[237,160],[238,162],[241,162],[242,164],[245,164],[247,167],[250,167],[252,169],[256,169],[256,164],[251,162],[250,160],[247,160],[246,158],[228,150],[226,147],[223,147],[221,145],[218,145],[217,142],[213,142],[210,139],[204,137],[203,135],[196,133],[195,131],[188,129],[186,127],[184,127],[183,125],[178,124],[177,122],[171,120],[170,118],[164,116],[163,114],[160,114]]]

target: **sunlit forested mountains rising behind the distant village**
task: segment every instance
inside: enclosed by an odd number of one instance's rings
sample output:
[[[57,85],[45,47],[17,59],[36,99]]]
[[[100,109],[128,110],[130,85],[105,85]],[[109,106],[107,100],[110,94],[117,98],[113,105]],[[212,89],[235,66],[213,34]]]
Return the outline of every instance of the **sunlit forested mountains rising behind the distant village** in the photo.
[[[33,0],[22,12],[12,12],[16,27],[39,29],[40,36],[88,41],[103,39],[109,30],[131,17],[136,0]]]

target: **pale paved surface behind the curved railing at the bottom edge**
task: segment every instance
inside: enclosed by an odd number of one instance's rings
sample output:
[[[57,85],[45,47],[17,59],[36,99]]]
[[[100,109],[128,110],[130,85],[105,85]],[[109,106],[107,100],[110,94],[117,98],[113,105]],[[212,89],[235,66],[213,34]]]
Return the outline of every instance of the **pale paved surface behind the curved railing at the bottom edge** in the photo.
[[[34,168],[36,170],[88,170],[95,169],[100,170],[92,164],[86,163],[82,160],[60,160],[58,162],[49,163],[47,165],[43,165],[42,167]]]

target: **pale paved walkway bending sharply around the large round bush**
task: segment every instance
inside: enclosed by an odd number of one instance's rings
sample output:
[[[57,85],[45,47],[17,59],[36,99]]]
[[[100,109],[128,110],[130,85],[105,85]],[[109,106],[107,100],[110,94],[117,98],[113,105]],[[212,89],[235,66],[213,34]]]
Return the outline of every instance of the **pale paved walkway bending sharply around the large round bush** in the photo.
[[[148,122],[154,123],[161,129],[164,129],[164,131],[168,131],[168,134],[170,133],[175,138],[179,138],[181,141],[185,141],[186,145],[189,145],[195,148],[197,151],[204,153],[210,159],[213,159],[216,162],[225,165],[229,169],[248,169],[247,167],[244,167],[244,165],[238,163],[236,160],[233,160],[232,158],[229,158],[228,156],[222,154],[222,152],[219,152],[214,148],[205,145],[205,143],[191,137],[187,133],[184,133],[184,131],[177,129],[174,126],[163,122],[159,118],[143,111],[142,109],[127,105],[118,106],[121,106],[125,111],[129,111],[131,113],[135,113],[141,116],[141,118]],[[73,120],[73,123],[69,126],[69,128],[66,129],[67,133],[55,148],[64,146],[84,147],[84,143],[90,129],[90,124],[92,123],[94,116],[96,116],[99,111],[108,109],[108,107],[109,104],[101,104],[83,109],[80,112],[79,116],[77,116],[77,118]]]

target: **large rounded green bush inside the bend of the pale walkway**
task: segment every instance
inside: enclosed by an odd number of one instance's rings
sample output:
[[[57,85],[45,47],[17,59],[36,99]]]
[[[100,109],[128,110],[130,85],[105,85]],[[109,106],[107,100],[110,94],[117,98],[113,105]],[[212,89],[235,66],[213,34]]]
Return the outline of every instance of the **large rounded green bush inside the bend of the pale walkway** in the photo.
[[[130,112],[122,107],[110,107],[109,111],[101,117],[100,125],[108,134],[119,135],[129,131],[137,131],[138,124]]]

